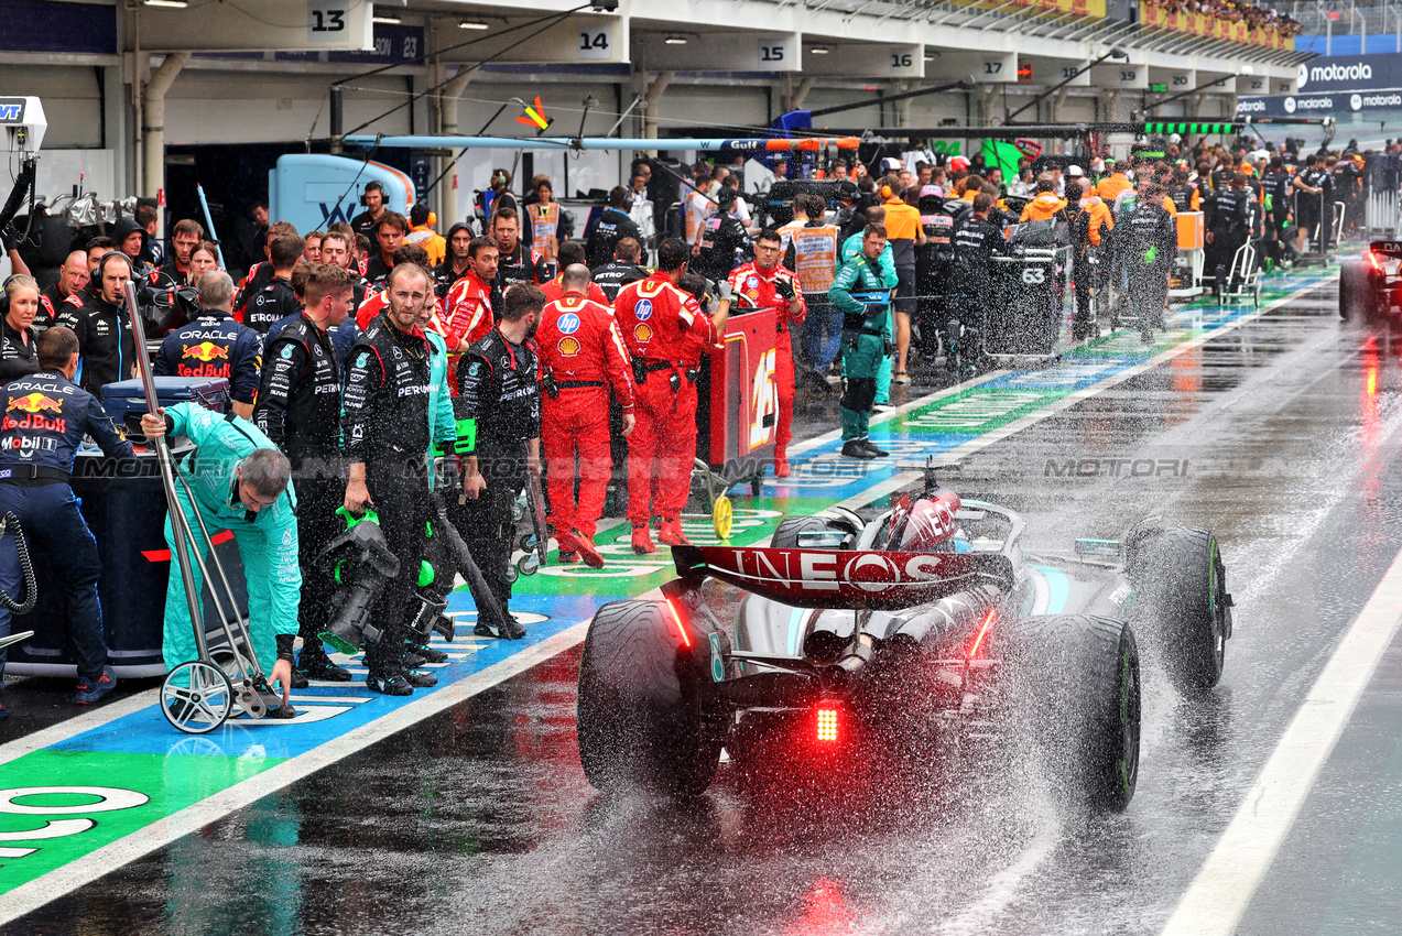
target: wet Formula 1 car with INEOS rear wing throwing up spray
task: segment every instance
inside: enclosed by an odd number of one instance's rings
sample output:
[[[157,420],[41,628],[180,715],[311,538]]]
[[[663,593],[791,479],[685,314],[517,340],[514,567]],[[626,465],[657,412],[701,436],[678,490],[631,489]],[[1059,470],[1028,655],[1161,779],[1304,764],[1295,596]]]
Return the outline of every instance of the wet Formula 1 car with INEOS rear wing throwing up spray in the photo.
[[[606,604],[589,625],[585,775],[606,792],[686,797],[712,782],[722,748],[743,771],[764,752],[822,761],[962,731],[1035,752],[1078,806],[1126,808],[1134,631],[1183,691],[1218,681],[1231,597],[1217,541],[1141,525],[1033,558],[1022,530],[1011,510],[938,493],[927,471],[923,496],[872,521],[830,509],[785,520],[767,549],[674,548],[663,600]],[[743,593],[729,628],[702,598],[707,577]]]

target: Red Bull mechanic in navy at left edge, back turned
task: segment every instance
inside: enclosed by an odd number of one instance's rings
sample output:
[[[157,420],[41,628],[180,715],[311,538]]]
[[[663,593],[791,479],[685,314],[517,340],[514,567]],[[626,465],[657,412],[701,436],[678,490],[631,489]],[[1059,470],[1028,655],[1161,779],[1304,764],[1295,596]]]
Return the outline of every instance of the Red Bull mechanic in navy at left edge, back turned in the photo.
[[[39,373],[8,384],[0,398],[0,514],[14,513],[29,542],[62,562],[52,566],[67,597],[69,638],[77,656],[79,682],[73,701],[90,705],[112,691],[116,677],[107,666],[101,573],[97,539],[79,511],[69,476],[84,436],[93,436],[109,458],[133,457],[132,446],[112,426],[102,405],[74,381],[79,339],[62,325],[38,338]],[[20,555],[14,532],[0,542],[0,590],[18,596]],[[10,633],[11,612],[0,605],[0,636]],[[4,652],[0,650],[0,671]]]

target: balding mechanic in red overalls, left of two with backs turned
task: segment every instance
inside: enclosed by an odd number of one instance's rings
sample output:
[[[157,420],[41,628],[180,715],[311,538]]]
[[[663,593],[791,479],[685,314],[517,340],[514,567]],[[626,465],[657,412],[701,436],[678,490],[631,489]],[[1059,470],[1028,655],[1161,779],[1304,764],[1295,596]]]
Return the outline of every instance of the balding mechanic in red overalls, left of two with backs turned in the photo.
[[[569,241],[561,247],[566,247]],[[545,399],[540,444],[550,488],[550,523],[555,525],[559,560],[601,569],[604,558],[593,535],[604,511],[613,474],[608,448],[608,387],[622,406],[622,434],[632,434],[632,367],[613,311],[587,297],[589,268],[571,263],[561,273],[564,296],[545,304],[536,343]],[[575,502],[575,455],[579,457],[579,502]]]

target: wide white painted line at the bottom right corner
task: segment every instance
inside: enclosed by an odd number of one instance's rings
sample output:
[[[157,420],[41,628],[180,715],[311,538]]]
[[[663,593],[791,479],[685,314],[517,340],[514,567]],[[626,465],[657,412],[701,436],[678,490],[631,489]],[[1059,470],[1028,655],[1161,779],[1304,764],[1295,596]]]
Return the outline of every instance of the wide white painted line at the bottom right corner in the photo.
[[[1402,552],[1315,680],[1162,936],[1231,936],[1402,625]]]

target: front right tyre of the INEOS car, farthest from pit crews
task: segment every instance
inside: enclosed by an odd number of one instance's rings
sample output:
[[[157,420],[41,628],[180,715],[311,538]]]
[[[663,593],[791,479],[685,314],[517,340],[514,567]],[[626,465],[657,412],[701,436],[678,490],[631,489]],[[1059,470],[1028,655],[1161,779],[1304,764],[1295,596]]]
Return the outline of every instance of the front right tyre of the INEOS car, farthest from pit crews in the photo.
[[[1130,581],[1130,621],[1164,646],[1173,684],[1180,689],[1217,685],[1231,636],[1231,596],[1211,531],[1171,527],[1151,534],[1134,548]]]

